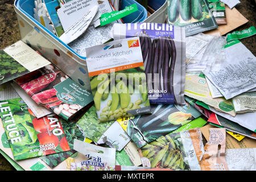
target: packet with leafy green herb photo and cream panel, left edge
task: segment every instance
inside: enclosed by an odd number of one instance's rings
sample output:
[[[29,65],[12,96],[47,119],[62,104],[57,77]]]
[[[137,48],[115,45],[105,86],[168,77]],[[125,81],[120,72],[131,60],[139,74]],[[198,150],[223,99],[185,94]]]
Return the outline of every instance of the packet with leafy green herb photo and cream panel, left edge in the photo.
[[[21,40],[0,50],[0,84],[50,64]]]

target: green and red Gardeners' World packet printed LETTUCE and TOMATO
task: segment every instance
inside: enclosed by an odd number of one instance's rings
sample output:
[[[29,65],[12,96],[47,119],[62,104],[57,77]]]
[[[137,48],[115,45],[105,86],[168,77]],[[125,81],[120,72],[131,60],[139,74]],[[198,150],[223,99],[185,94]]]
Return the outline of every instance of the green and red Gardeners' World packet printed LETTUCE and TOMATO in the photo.
[[[70,150],[57,115],[38,119],[21,98],[1,101],[0,111],[15,160]]]

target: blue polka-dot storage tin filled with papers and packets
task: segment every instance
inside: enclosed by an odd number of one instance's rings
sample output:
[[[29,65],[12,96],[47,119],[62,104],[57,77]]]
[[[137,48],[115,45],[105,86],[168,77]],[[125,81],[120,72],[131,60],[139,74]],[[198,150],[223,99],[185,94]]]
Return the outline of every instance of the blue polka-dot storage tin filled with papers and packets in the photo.
[[[133,3],[137,2],[123,0],[123,5],[126,6]],[[125,23],[142,22],[146,19],[146,9],[139,3],[137,3],[137,6],[139,11],[129,15],[130,18],[125,19]],[[78,55],[56,35],[36,21],[33,17],[33,8],[34,0],[15,0],[14,2],[14,10],[18,18],[22,41],[35,51],[39,51],[42,56],[55,64],[83,88],[90,90],[86,57]],[[141,19],[138,19],[138,17]]]

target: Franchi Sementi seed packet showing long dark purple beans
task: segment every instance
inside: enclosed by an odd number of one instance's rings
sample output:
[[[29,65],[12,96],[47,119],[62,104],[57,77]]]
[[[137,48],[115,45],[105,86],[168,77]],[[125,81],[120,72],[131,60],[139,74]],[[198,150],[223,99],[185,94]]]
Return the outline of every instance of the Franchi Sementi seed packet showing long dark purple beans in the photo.
[[[151,104],[185,104],[184,28],[158,23],[115,23],[114,40],[139,36]]]

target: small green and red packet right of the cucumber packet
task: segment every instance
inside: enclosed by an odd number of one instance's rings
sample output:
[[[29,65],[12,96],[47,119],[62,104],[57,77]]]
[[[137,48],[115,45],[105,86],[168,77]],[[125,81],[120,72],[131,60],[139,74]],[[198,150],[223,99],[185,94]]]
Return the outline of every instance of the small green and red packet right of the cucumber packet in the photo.
[[[218,0],[207,0],[210,12],[212,12],[217,24],[226,24],[225,3]]]

